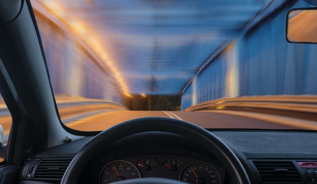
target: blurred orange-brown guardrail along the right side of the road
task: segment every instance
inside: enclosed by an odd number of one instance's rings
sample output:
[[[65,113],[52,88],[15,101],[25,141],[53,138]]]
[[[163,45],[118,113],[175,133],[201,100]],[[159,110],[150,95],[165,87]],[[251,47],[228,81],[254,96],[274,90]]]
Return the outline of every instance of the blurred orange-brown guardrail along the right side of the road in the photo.
[[[265,95],[221,98],[202,102],[184,111],[234,110],[317,120],[317,95]]]

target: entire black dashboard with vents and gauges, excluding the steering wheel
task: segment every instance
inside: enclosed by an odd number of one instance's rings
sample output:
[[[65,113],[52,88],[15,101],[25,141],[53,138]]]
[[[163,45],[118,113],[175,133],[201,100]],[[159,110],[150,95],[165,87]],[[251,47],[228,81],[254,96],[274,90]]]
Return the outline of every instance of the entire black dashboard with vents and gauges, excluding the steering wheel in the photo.
[[[241,160],[251,183],[317,183],[315,132],[213,131],[212,133],[223,140]],[[93,136],[83,137],[29,157],[21,171],[19,183],[24,184],[27,181],[60,183],[63,173],[56,172],[53,168],[58,166],[60,171],[64,172],[67,168],[64,165],[69,164],[92,138]],[[54,167],[48,163],[53,163]],[[314,168],[305,168],[299,163],[308,163],[307,167],[310,167],[310,163]],[[268,165],[270,167],[267,167]],[[43,173],[45,167],[47,173]],[[105,168],[108,168],[108,171]],[[191,168],[197,177],[190,171]],[[204,170],[206,168],[210,173]],[[264,168],[267,170],[263,170]],[[276,170],[281,168],[282,170]],[[201,170],[198,171],[199,169]],[[288,172],[285,169],[288,169]],[[220,181],[215,171],[219,174]],[[56,174],[53,175],[52,172]],[[266,172],[272,173],[269,175],[272,178],[268,178]],[[118,176],[122,177],[118,178]],[[135,134],[105,147],[87,163],[78,183],[109,183],[111,180],[128,179],[132,176],[164,177],[183,181],[187,179],[188,183],[192,183],[193,180],[194,183],[204,183],[204,180],[196,181],[196,179],[206,180],[213,177],[216,178],[212,181],[214,183],[232,183],[221,160],[215,155],[186,137],[164,132]]]

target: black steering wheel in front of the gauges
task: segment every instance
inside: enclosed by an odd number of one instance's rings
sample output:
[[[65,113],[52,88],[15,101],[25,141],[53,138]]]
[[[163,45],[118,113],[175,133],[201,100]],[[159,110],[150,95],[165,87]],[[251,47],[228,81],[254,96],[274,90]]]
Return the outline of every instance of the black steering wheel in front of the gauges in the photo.
[[[95,154],[101,151],[101,149],[126,136],[148,131],[169,132],[195,140],[197,143],[209,150],[210,153],[213,153],[222,162],[223,166],[230,174],[233,183],[250,184],[249,177],[239,159],[218,137],[195,124],[166,117],[143,117],[132,119],[102,131],[91,139],[77,153],[72,162],[70,162],[61,180],[61,184],[77,183],[78,177],[83,168]],[[137,178],[114,182],[114,184],[135,183],[184,184],[182,181],[164,178]]]

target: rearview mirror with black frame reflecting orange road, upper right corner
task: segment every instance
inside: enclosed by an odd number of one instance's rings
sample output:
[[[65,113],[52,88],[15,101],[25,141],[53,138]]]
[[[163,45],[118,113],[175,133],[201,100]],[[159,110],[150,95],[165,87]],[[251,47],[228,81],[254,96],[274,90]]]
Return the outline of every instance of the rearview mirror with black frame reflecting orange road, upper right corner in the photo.
[[[286,40],[290,43],[317,43],[317,8],[296,8],[288,11]]]

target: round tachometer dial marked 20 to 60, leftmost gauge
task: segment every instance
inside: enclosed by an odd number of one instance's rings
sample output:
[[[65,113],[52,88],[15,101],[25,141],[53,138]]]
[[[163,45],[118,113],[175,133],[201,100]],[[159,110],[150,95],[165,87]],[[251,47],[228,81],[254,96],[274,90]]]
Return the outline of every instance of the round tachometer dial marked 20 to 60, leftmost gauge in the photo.
[[[108,163],[100,172],[100,184],[140,178],[139,170],[130,162],[118,160]]]

